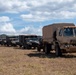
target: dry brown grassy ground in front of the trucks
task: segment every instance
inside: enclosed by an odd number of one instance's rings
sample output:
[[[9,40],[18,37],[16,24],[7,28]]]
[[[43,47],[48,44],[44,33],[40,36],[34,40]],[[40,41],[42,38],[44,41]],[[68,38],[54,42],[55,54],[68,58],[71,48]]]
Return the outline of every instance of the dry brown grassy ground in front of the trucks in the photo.
[[[0,46],[0,75],[76,75],[76,53],[56,57]]]

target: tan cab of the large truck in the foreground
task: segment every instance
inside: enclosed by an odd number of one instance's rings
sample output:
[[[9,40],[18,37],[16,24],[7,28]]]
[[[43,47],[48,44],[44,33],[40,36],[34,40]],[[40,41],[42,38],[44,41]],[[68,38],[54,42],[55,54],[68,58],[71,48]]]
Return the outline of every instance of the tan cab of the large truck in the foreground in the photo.
[[[67,50],[73,52],[75,49],[70,49],[76,46],[76,26],[64,26],[61,29],[59,28],[56,38],[58,39],[61,49],[65,49],[66,52]]]

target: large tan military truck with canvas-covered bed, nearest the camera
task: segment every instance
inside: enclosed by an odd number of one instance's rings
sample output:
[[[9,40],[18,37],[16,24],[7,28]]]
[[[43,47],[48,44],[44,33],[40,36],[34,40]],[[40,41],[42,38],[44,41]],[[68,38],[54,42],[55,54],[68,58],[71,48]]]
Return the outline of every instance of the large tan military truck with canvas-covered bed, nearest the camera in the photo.
[[[76,52],[76,26],[73,23],[54,23],[42,29],[42,44],[38,51],[43,49],[45,54],[55,50],[56,56],[64,52]]]

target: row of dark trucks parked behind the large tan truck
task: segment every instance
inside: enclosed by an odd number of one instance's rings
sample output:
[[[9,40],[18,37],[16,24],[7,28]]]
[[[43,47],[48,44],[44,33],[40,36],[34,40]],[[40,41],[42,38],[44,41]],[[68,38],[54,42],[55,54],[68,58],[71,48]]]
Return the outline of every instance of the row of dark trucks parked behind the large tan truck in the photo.
[[[37,35],[0,35],[0,44],[4,46],[19,46],[24,49],[35,49],[39,43]]]

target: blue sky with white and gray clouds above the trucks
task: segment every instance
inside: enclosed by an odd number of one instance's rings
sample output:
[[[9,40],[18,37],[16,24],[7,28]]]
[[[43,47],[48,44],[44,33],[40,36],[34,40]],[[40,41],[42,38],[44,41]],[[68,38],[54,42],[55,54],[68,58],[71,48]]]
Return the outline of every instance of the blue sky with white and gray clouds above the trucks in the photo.
[[[76,25],[76,0],[0,0],[0,34],[42,35],[60,22]]]

